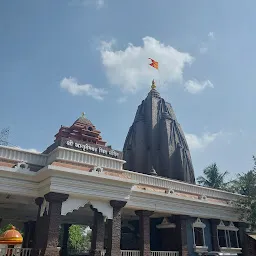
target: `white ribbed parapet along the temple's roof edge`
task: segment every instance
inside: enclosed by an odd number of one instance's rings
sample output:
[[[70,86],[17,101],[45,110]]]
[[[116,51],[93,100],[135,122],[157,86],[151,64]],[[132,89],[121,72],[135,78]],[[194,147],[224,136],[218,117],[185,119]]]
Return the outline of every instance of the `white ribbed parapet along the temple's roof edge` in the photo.
[[[141,173],[135,173],[123,170],[125,161],[106,156],[96,155],[88,152],[81,152],[74,149],[58,147],[50,154],[33,153],[18,148],[0,146],[0,158],[26,162],[27,164],[46,166],[54,161],[67,161],[70,163],[86,164],[90,166],[100,166],[108,169],[108,172],[118,171],[124,177],[130,177],[134,183],[150,185],[158,188],[164,188],[168,195],[177,193],[186,193],[195,195],[201,200],[210,201],[210,198],[226,201],[226,204],[232,205],[231,201],[241,198],[240,195],[232,194],[212,188],[206,188],[199,185],[188,184],[167,178],[155,177]],[[74,170],[75,170],[74,166]],[[110,176],[110,175],[108,175]],[[113,176],[112,176],[113,177]],[[175,191],[175,193],[174,193]],[[204,196],[204,198],[202,197]]]

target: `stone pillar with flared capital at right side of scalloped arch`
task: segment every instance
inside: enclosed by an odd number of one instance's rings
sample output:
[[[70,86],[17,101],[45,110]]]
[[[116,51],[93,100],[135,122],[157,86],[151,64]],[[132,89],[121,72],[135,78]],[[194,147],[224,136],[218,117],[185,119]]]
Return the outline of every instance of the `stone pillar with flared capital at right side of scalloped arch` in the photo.
[[[113,207],[113,219],[108,220],[107,233],[107,256],[119,256],[121,255],[120,240],[121,240],[121,209],[126,205],[125,201],[110,201],[110,205]]]

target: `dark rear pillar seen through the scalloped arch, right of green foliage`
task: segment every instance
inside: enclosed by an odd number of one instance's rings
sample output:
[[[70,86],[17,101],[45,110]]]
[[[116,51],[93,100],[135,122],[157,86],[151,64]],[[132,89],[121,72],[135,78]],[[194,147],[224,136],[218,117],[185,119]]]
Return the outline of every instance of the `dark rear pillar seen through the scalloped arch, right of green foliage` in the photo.
[[[101,251],[104,250],[104,234],[105,223],[104,217],[101,212],[93,209],[93,229],[92,229],[92,241],[91,241],[91,256],[101,256]]]

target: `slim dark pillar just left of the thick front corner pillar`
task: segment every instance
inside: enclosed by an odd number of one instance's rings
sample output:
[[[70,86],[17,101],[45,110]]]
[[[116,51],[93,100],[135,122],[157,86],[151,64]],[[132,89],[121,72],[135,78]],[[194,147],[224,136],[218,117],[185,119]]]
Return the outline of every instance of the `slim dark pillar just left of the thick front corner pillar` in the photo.
[[[38,210],[37,210],[36,227],[35,227],[35,235],[34,235],[33,255],[37,255],[38,250],[42,249],[42,241],[44,239],[44,237],[41,234],[43,225],[42,225],[42,218],[40,217],[43,201],[44,201],[43,197],[38,197],[35,199],[35,204],[38,206]]]

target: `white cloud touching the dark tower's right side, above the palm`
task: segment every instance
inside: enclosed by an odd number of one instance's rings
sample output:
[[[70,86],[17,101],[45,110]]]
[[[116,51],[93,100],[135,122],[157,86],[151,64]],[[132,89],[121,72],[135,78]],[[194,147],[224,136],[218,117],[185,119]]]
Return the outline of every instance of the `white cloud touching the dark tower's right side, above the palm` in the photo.
[[[222,135],[222,132],[217,132],[217,133],[204,133],[201,137],[197,136],[195,134],[191,133],[185,133],[185,137],[187,139],[187,143],[189,145],[190,150],[203,150],[209,144],[214,142],[217,137]]]

